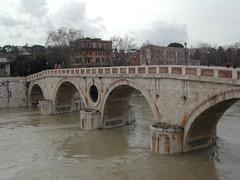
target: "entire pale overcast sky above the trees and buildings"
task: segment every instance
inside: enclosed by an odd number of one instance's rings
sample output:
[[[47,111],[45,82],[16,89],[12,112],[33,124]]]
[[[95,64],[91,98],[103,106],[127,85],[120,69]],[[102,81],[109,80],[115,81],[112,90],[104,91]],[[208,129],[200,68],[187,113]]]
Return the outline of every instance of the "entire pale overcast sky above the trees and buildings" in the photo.
[[[61,26],[85,36],[217,45],[240,41],[240,0],[0,0],[0,46],[44,45]]]

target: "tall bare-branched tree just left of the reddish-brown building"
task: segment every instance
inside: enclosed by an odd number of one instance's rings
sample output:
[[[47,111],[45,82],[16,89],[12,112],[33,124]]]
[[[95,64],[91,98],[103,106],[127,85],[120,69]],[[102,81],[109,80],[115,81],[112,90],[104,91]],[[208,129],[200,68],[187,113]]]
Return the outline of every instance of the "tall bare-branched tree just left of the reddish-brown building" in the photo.
[[[48,32],[46,41],[47,60],[53,67],[54,64],[62,64],[63,67],[70,66],[70,48],[72,41],[83,38],[83,33],[78,29],[61,27],[56,31]]]

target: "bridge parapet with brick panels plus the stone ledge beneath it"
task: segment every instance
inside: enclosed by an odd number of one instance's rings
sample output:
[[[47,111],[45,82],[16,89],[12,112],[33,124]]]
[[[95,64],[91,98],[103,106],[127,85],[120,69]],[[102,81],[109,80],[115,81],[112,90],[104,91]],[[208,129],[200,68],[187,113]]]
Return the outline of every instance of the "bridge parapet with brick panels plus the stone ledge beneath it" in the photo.
[[[45,70],[26,77],[27,82],[45,77],[155,77],[172,79],[189,79],[217,83],[238,84],[240,69],[215,66],[183,66],[183,65],[151,65],[151,66],[122,66],[122,67],[92,67],[72,69]]]

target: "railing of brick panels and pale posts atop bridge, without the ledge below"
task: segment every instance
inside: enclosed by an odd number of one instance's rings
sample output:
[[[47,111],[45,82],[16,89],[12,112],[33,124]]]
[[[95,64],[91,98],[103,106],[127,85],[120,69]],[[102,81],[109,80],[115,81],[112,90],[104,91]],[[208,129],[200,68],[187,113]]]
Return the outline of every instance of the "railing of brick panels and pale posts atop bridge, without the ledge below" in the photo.
[[[49,76],[107,76],[124,74],[131,74],[132,76],[144,74],[173,74],[184,76],[204,76],[214,78],[240,79],[240,69],[208,66],[158,65],[50,69],[27,76],[26,81],[30,82]]]

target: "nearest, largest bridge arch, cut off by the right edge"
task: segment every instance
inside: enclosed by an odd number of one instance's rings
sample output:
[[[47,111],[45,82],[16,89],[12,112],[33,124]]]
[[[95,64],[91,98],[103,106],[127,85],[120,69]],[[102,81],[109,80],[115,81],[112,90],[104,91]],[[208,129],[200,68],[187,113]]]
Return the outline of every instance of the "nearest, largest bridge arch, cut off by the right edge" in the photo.
[[[214,144],[219,119],[239,99],[240,89],[230,90],[214,95],[195,107],[184,127],[184,152]]]

